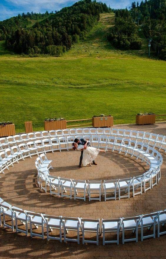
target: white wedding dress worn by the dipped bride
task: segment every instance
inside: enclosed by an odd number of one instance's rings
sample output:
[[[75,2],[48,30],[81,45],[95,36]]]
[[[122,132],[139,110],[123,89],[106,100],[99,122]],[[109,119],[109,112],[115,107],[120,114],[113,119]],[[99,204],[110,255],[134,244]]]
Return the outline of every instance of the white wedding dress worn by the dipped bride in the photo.
[[[83,148],[84,146],[80,144],[78,145],[77,150],[81,150]],[[87,147],[87,149],[84,149],[83,157],[82,157],[83,166],[91,164],[94,161],[94,159],[97,158],[99,152],[100,152],[99,149],[96,149],[91,146]]]

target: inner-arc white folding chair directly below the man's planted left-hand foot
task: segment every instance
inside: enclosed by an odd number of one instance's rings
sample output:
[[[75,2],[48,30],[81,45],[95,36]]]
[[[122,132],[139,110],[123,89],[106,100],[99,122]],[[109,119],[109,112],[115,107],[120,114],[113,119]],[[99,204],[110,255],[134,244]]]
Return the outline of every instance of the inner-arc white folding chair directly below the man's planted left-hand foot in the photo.
[[[86,200],[86,194],[89,195],[88,193],[88,184],[86,183],[85,180],[74,180],[72,179],[72,182],[74,184],[74,199],[83,199],[84,201]],[[78,192],[83,192],[84,197],[79,197],[76,196],[78,195]]]

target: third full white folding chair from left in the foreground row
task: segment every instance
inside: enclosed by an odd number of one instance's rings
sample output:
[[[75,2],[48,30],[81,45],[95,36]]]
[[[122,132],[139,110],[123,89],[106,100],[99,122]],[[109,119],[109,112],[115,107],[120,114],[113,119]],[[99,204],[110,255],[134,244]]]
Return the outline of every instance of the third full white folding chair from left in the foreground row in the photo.
[[[46,225],[46,219],[44,218],[44,215],[41,213],[35,213],[31,211],[26,211],[26,214],[29,217],[29,223],[30,223],[30,234],[31,237],[42,237],[44,239],[44,225]],[[32,225],[36,225],[37,227],[41,226],[41,234],[33,232]]]

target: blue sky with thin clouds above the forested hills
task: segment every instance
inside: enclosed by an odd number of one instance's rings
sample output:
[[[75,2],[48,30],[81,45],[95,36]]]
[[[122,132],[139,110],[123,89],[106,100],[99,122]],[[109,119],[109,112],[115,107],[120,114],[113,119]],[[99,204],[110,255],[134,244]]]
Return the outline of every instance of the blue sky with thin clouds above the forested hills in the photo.
[[[78,0],[77,0],[78,1]],[[70,6],[77,1],[71,0],[0,0],[0,21],[8,19],[18,13],[51,12],[60,10],[64,6]],[[103,1],[103,0],[102,0]],[[125,8],[130,6],[134,0],[106,0],[103,1],[112,8]],[[140,1],[139,1],[140,2]]]

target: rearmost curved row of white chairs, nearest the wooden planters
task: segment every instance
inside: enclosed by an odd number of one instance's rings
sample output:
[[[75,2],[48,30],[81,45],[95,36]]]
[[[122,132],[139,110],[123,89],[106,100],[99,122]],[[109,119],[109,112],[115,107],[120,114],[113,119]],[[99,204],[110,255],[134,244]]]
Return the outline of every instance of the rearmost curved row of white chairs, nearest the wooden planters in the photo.
[[[20,143],[27,143],[29,141],[44,140],[46,138],[61,138],[60,142],[65,140],[68,145],[74,138],[85,137],[91,141],[92,135],[97,135],[98,138],[101,135],[109,137],[121,137],[124,139],[130,139],[134,141],[140,141],[146,143],[148,146],[157,147],[166,151],[166,136],[128,129],[117,129],[117,128],[71,128],[63,130],[52,130],[52,131],[36,131],[32,133],[17,134],[14,136],[0,138],[0,150],[6,149],[9,146],[18,145]],[[93,141],[93,139],[92,139]],[[37,144],[37,142],[36,142]],[[60,143],[57,143],[57,149],[60,149]],[[55,150],[55,149],[54,149]]]

